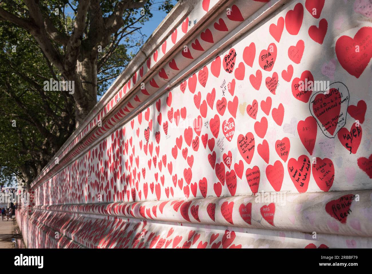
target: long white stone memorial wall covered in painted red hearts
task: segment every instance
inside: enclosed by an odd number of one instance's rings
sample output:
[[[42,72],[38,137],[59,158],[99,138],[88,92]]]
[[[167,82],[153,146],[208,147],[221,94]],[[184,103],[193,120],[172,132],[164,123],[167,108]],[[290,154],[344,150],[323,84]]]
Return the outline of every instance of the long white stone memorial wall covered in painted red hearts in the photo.
[[[28,248],[372,248],[372,1],[172,12],[31,184]]]

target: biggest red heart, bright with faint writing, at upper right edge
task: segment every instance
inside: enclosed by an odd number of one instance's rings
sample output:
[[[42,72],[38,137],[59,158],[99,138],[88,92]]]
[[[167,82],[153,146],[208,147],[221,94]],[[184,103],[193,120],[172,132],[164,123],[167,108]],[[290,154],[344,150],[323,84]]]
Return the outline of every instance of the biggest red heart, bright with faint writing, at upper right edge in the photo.
[[[360,28],[354,38],[341,36],[336,41],[335,50],[341,66],[359,78],[372,57],[372,27]]]

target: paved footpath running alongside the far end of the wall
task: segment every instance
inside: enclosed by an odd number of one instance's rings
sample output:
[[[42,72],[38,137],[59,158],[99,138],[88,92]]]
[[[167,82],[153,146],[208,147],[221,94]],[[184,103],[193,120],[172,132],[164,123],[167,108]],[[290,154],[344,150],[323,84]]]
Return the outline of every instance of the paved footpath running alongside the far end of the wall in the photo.
[[[1,221],[0,218],[0,248],[16,248],[16,244],[12,242],[12,239],[22,239],[15,216],[9,221],[6,218]]]

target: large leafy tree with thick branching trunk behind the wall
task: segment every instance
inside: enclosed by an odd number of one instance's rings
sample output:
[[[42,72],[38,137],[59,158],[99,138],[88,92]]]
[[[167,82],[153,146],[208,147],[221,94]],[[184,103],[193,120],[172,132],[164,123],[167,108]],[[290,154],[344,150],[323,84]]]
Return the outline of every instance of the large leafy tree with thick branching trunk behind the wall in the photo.
[[[31,183],[144,42],[172,0],[0,0],[0,184]],[[74,92],[44,81],[74,81]]]

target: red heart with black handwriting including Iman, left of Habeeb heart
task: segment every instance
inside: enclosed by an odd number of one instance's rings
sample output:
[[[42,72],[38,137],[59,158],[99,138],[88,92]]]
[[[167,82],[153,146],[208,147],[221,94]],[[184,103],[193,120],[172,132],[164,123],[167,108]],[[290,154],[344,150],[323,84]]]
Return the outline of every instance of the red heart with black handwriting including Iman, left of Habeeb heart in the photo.
[[[310,180],[311,164],[309,157],[301,155],[298,160],[291,158],[288,161],[288,173],[299,193],[307,191]]]

